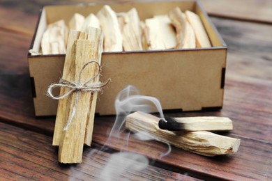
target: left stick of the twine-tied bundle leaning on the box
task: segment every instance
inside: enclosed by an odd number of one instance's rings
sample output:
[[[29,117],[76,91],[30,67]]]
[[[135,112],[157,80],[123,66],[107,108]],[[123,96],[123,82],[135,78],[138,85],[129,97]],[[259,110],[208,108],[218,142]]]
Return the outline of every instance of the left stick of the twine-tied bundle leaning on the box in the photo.
[[[81,33],[82,36],[82,33]],[[63,74],[62,79],[65,79],[67,81],[74,81],[75,80],[75,60],[72,55],[73,52],[73,45],[75,40],[80,38],[80,31],[70,31],[69,37],[68,37],[68,45],[67,45],[67,51],[66,51],[66,57],[65,57],[65,63],[63,67]],[[68,92],[67,88],[61,88],[60,95],[64,95]],[[62,134],[63,134],[63,127],[65,127],[66,122],[68,120],[68,112],[70,110],[70,107],[66,107],[68,105],[70,100],[70,95],[65,97],[62,100],[59,100],[58,109],[56,113],[56,122],[55,122],[55,128],[54,128],[54,136],[53,136],[53,143],[52,145],[59,145],[59,142],[61,140]]]

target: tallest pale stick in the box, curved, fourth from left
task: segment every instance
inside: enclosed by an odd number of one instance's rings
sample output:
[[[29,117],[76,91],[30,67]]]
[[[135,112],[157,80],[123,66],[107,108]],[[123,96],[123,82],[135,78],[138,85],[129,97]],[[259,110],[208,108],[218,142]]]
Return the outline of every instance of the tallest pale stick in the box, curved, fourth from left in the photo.
[[[104,33],[104,51],[121,52],[123,50],[123,38],[116,13],[112,8],[105,5],[98,12],[97,17]]]

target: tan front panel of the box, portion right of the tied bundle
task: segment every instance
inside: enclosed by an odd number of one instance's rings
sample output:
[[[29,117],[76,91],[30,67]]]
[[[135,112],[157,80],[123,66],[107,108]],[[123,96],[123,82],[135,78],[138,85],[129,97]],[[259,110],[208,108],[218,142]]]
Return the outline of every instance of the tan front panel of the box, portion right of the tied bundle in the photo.
[[[96,111],[114,114],[116,95],[128,85],[157,97],[163,109],[201,110],[222,107],[225,49],[105,54],[103,77],[112,83],[99,96]]]

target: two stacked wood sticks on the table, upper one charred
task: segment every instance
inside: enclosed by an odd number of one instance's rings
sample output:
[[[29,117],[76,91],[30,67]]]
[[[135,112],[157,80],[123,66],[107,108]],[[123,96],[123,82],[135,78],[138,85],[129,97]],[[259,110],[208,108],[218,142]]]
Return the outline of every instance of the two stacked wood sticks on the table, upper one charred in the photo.
[[[240,139],[208,132],[232,130],[232,120],[223,117],[160,119],[137,111],[127,116],[126,128],[147,132],[157,141],[208,157],[237,152],[240,145]]]

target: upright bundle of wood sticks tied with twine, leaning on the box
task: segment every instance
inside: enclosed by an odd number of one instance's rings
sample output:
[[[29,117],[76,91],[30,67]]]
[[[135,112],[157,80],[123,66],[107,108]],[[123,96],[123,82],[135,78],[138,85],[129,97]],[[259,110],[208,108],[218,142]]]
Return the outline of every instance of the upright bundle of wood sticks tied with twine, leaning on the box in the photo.
[[[70,31],[62,81],[50,86],[61,88],[59,97],[50,96],[59,100],[52,144],[61,163],[81,163],[83,146],[91,146],[102,47],[101,29]]]

